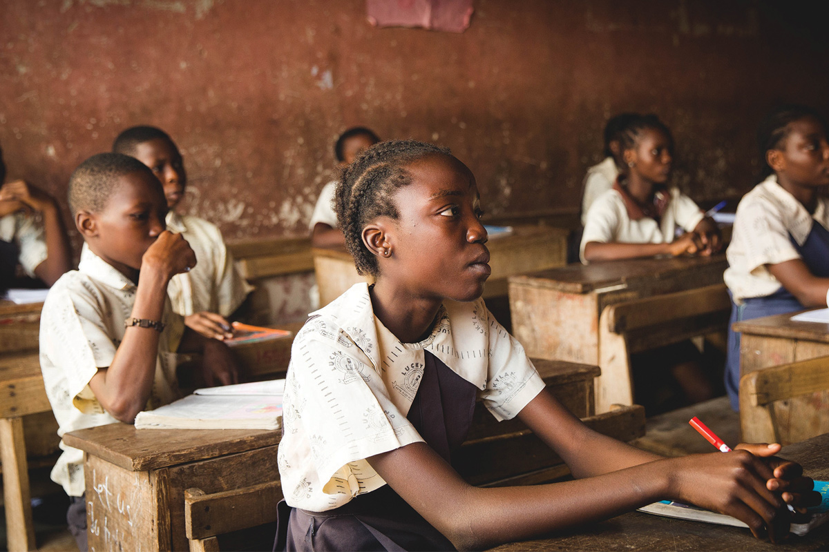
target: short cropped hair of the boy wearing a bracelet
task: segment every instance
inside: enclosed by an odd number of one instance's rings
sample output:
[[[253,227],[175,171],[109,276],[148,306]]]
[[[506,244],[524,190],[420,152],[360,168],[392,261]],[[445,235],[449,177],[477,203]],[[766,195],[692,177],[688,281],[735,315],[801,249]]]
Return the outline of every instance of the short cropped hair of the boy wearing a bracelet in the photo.
[[[67,195],[72,214],[78,211],[100,213],[116,188],[115,180],[142,170],[153,175],[153,171],[141,161],[122,153],[99,153],[91,156],[81,163],[69,178]]]

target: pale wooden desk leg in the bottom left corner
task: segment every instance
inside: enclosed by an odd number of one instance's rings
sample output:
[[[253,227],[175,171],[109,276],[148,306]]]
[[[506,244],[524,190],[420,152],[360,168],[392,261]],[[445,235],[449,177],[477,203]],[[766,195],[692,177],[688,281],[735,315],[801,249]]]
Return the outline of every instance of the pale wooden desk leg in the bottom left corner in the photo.
[[[8,550],[36,550],[22,418],[0,419],[0,462]]]

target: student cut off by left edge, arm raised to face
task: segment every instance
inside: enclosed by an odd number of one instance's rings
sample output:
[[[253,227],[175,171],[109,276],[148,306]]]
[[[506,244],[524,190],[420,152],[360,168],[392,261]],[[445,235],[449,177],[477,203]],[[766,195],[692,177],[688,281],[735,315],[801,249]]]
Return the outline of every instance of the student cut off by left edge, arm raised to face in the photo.
[[[72,267],[61,210],[51,195],[23,180],[3,182],[0,152],[0,295],[13,286],[18,262],[28,276],[51,286]]]

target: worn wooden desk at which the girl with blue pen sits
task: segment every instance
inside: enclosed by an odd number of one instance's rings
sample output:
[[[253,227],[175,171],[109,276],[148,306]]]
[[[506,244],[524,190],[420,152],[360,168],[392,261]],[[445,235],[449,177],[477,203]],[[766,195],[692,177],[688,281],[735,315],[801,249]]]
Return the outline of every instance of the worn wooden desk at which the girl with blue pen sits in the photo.
[[[687,303],[692,298],[680,292],[721,286],[726,266],[724,255],[652,258],[596,262],[586,266],[571,264],[511,276],[512,332],[531,357],[595,364],[601,367],[603,377],[618,377],[619,370],[613,369],[613,365],[619,361],[615,357],[624,351],[610,350],[609,345],[605,347],[608,351],[600,348],[602,332],[599,331],[599,323],[607,307],[642,300],[642,309],[637,310],[636,305],[628,306],[637,311],[640,318],[637,324],[647,328],[647,321],[641,318],[652,312],[644,305],[648,298],[674,294],[677,300]],[[721,295],[727,304],[725,290]],[[660,308],[670,310],[667,305]],[[661,316],[660,320],[665,318],[662,311],[653,314]],[[642,334],[647,339],[639,339],[642,343],[632,343],[631,349],[647,350],[663,342],[671,343],[679,337],[691,338],[720,326],[725,332],[728,312],[725,309],[703,313],[697,318],[691,320],[693,324],[685,324],[682,320],[676,320],[670,326],[657,324],[657,330]],[[615,320],[614,325],[623,328],[624,320]],[[628,397],[628,401],[608,402],[610,397],[602,391],[601,382],[597,380],[596,384],[597,412],[608,410],[612,402],[632,404],[632,397]]]

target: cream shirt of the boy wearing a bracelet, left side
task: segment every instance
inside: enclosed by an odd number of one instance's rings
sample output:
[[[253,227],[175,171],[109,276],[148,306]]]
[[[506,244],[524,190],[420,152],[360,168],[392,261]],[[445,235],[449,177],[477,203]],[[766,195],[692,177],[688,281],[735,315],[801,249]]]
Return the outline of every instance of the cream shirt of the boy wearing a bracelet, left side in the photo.
[[[65,273],[46,295],[41,312],[41,372],[46,396],[58,422],[58,434],[116,420],[100,405],[89,383],[99,368],[109,367],[124,338],[124,321],[130,317],[137,286],[126,276],[86,250],[78,270]],[[184,320],[170,310],[158,342],[153,390],[145,410],[179,397],[175,351],[182,338]],[[146,330],[155,331],[155,330]],[[65,446],[51,471],[52,481],[70,497],[85,491],[84,454]]]

